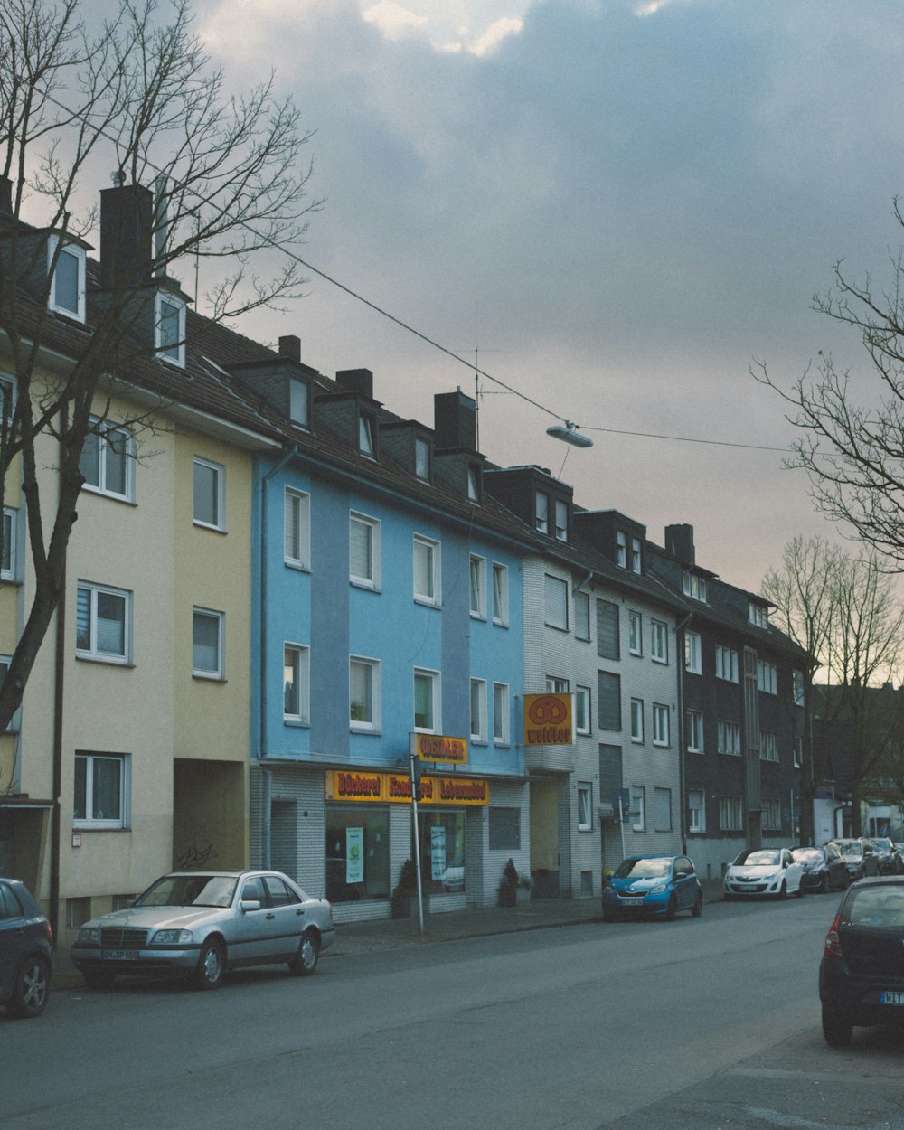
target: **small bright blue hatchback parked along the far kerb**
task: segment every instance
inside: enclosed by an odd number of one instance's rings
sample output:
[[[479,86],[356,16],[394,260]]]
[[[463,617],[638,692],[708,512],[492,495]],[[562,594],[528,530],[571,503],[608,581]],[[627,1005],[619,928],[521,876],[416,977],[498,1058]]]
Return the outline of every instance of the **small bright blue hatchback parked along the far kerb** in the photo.
[[[602,890],[607,922],[646,914],[673,919],[679,911],[703,913],[703,892],[687,855],[629,855]]]

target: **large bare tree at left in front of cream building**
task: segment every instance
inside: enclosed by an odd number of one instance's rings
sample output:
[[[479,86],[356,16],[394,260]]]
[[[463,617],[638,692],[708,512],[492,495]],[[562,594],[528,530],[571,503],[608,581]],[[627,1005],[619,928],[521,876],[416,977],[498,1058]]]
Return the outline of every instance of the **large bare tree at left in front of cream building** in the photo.
[[[34,565],[0,688],[0,732],[58,607],[85,441],[110,427],[103,403],[98,420],[98,394],[124,362],[155,348],[134,334],[148,279],[172,280],[179,261],[212,263],[203,312],[214,322],[279,305],[304,282],[290,254],[268,255],[269,276],[252,264],[273,249],[290,252],[320,206],[307,197],[311,166],[302,159],[311,133],[292,99],[277,96],[272,75],[229,96],[192,18],[188,0],[118,0],[92,31],[79,0],[0,0],[0,350],[15,379],[15,388],[2,384],[0,484],[20,468]],[[50,376],[40,358],[54,340],[51,287],[61,254],[88,247],[97,228],[86,201],[104,167],[120,186],[156,186],[150,259],[102,278],[102,293],[89,290],[82,342],[67,371]],[[42,497],[38,477],[47,436],[59,450],[53,498]]]

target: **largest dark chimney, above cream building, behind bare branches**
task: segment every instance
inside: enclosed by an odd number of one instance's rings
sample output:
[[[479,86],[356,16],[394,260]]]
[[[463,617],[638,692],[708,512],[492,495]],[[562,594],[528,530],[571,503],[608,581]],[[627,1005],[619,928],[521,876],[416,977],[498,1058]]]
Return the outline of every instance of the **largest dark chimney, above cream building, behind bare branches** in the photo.
[[[154,195],[141,184],[101,191],[101,286],[105,289],[150,281]]]

